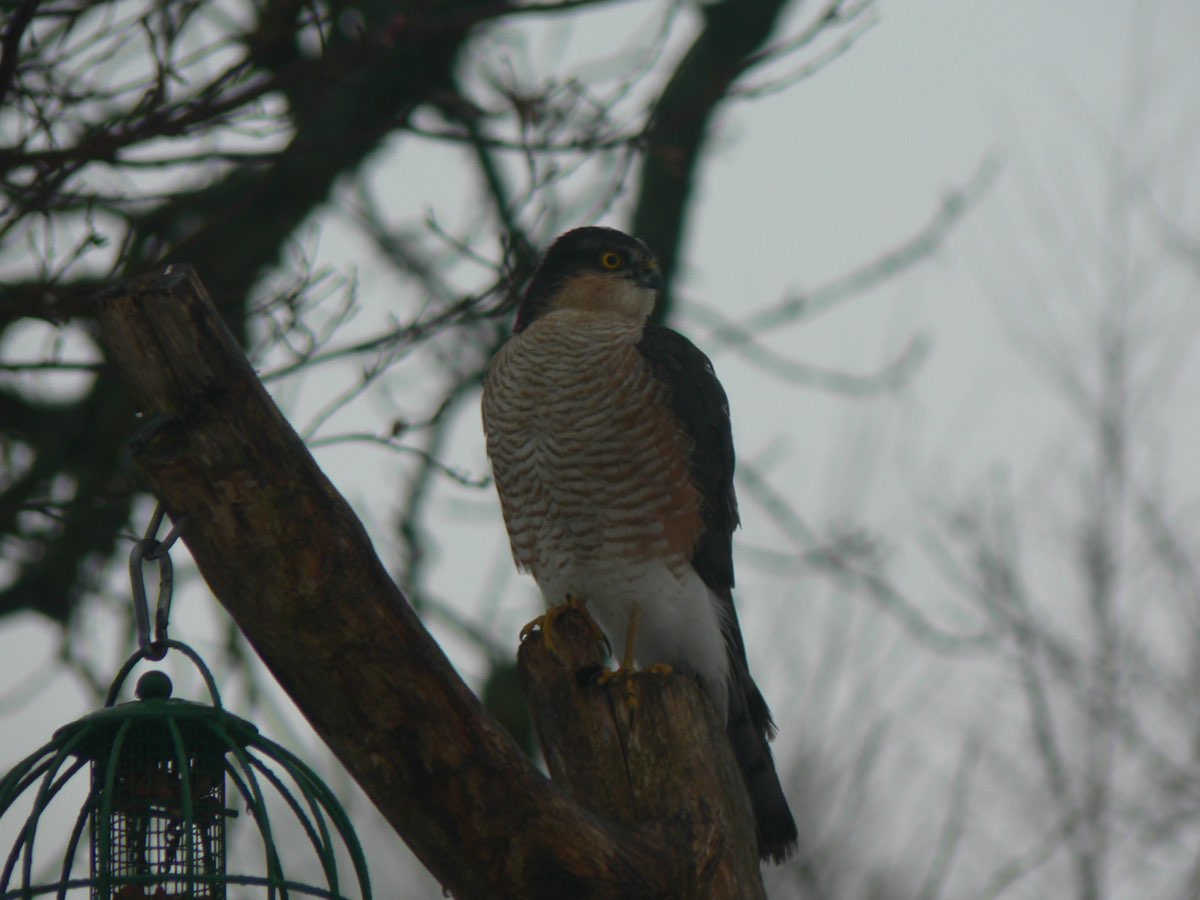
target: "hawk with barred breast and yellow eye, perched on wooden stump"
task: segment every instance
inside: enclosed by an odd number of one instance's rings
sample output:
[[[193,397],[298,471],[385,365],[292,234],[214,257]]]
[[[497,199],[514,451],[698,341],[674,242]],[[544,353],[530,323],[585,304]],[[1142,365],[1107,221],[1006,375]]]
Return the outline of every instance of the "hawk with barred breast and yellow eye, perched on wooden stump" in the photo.
[[[520,569],[586,605],[628,664],[695,673],[742,767],[758,853],[797,842],[733,608],[733,437],[725,390],[683,335],[647,322],[662,286],[640,240],[553,242],[484,384],[484,431]],[[635,628],[636,625],[636,628]]]

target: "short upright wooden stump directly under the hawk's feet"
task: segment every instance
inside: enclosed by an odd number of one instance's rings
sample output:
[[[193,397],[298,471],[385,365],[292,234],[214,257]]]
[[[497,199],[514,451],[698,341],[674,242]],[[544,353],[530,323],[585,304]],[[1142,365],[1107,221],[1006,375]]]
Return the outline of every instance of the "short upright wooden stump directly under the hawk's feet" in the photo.
[[[750,798],[700,685],[653,672],[598,684],[593,628],[568,611],[548,647],[535,632],[518,654],[554,784],[614,822],[677,822],[690,844],[684,896],[764,899]]]

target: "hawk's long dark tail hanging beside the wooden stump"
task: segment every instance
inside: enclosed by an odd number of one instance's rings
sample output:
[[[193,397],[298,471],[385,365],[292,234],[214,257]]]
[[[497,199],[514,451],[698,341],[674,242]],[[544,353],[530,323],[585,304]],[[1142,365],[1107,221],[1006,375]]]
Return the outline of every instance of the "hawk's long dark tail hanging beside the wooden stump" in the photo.
[[[767,701],[750,677],[744,659],[730,654],[730,709],[725,725],[733,755],[750,792],[758,830],[758,857],[782,863],[796,852],[796,820],[779,782],[775,760],[767,742],[775,736]]]

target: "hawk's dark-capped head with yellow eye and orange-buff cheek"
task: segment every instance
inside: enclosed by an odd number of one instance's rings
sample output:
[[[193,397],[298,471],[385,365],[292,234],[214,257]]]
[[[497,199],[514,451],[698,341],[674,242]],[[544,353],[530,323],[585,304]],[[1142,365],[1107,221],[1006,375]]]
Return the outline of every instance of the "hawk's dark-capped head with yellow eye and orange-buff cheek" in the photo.
[[[534,272],[515,331],[554,310],[646,322],[662,288],[650,248],[616,228],[576,228],[558,238]]]

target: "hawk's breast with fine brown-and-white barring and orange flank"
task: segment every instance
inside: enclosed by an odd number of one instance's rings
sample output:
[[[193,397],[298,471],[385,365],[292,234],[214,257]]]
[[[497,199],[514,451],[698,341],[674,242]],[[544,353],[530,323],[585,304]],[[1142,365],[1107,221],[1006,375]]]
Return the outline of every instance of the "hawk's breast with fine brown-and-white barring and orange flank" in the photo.
[[[547,313],[497,354],[484,431],[520,568],[542,583],[644,560],[677,574],[702,529],[691,448],[646,366],[641,325]]]

